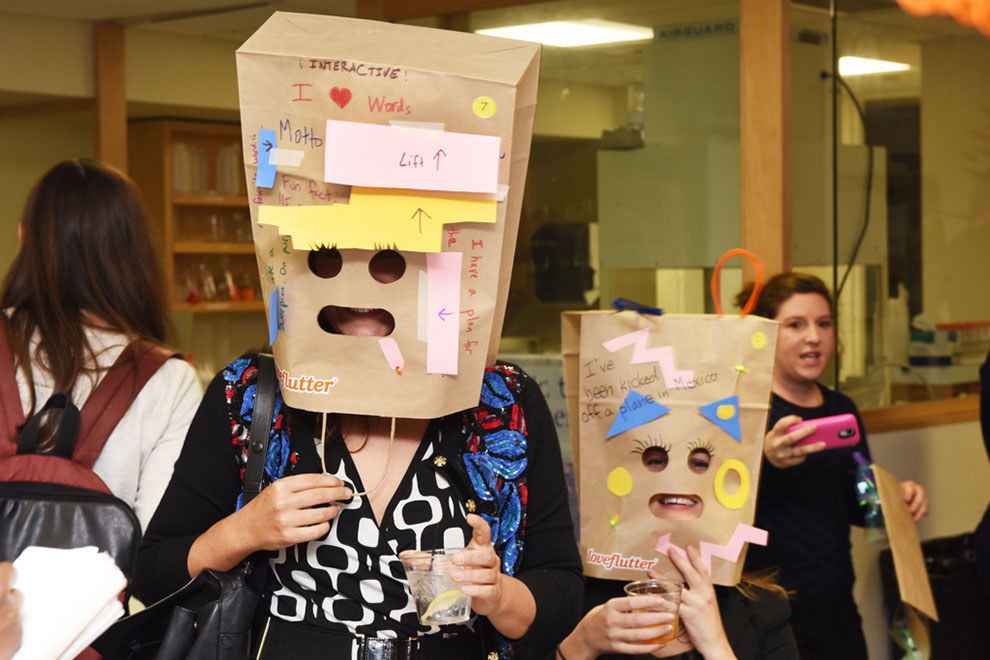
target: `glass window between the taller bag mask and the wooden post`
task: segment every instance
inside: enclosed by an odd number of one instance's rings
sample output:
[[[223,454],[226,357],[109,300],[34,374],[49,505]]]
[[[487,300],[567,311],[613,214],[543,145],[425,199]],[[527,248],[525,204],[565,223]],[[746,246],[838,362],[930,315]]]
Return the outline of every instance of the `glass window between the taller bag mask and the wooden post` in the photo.
[[[503,353],[559,355],[560,312],[617,297],[710,310],[710,269],[740,242],[738,0],[541,2],[464,29],[589,19],[654,37],[544,46]]]

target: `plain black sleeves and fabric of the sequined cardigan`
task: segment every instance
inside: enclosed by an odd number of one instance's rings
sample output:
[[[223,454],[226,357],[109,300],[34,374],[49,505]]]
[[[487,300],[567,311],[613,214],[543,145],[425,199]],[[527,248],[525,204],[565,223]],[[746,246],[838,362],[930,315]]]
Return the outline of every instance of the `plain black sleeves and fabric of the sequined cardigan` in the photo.
[[[563,639],[581,617],[581,560],[553,418],[539,385],[528,376],[522,380],[519,403],[528,427],[529,492],[525,545],[515,577],[532,592],[537,611],[529,632],[519,643],[545,647]],[[193,542],[235,509],[241,479],[231,446],[225,386],[221,373],[207,389],[172,479],[145,533],[134,580],[135,595],[145,603],[155,602],[189,580],[186,560]],[[455,413],[433,423],[459,428],[462,415]],[[444,437],[456,441],[459,434],[444,433]],[[308,434],[305,441],[312,446]],[[295,444],[296,439],[290,442]],[[451,449],[447,454],[453,456],[463,448]],[[298,456],[295,473],[321,470],[315,452],[300,451]]]

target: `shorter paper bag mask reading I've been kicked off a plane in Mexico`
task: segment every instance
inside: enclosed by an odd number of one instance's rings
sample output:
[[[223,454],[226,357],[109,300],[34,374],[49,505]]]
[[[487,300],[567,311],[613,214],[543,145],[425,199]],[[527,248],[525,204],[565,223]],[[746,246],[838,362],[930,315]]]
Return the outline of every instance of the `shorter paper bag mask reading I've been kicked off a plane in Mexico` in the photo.
[[[751,525],[776,321],[564,316],[585,574],[680,581],[666,553],[694,545],[716,584],[737,583],[746,542],[766,543]]]

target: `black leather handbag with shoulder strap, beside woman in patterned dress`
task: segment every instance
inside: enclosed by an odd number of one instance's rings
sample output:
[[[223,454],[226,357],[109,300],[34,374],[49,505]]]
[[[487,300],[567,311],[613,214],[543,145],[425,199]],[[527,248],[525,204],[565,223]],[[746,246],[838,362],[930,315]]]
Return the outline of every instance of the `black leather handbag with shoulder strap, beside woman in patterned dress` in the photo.
[[[261,492],[275,384],[272,356],[259,355],[245,503]],[[175,593],[115,623],[93,648],[107,660],[245,660],[266,566],[266,556],[252,556],[230,571],[203,570]]]

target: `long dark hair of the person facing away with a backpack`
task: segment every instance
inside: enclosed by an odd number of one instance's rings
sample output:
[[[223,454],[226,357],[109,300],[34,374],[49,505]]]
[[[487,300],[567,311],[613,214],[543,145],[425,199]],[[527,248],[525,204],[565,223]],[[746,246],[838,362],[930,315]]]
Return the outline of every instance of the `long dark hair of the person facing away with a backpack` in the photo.
[[[20,229],[0,293],[18,364],[31,363],[37,337],[38,366],[51,374],[54,391],[69,392],[95,368],[87,326],[164,342],[162,276],[144,207],[126,176],[95,160],[63,161],[35,184]],[[33,414],[34,380],[31,369],[24,373]]]

